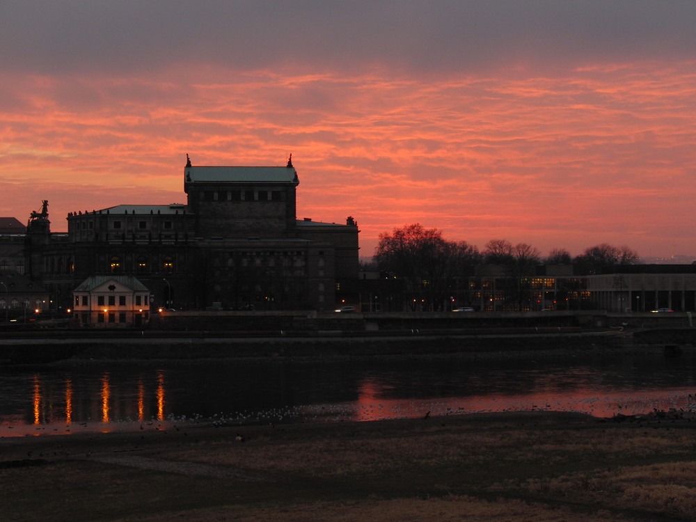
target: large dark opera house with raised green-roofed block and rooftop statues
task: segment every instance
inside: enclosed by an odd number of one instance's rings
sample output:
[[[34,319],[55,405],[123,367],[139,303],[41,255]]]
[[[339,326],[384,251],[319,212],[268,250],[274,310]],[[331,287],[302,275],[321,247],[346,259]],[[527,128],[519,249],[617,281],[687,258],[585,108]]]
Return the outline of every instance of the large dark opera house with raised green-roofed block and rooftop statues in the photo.
[[[192,166],[187,203],[117,205],[68,214],[50,232],[47,202],[26,228],[26,274],[72,307],[90,276],[136,276],[153,306],[333,310],[356,297],[358,226],[296,219],[295,168]],[[337,290],[338,289],[338,290]],[[351,290],[351,292],[354,290]]]

